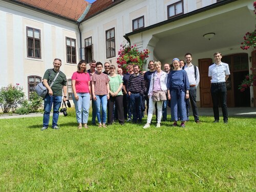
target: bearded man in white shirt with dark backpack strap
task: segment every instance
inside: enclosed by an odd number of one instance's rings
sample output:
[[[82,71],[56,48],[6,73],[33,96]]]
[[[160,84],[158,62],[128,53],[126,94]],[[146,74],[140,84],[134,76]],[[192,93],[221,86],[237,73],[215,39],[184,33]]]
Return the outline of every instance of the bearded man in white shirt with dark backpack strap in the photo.
[[[191,102],[191,107],[196,123],[200,123],[198,109],[197,109],[197,86],[200,81],[199,70],[197,66],[191,63],[192,54],[185,54],[186,65],[182,68],[187,72],[188,82],[189,82],[189,99]],[[188,120],[188,109],[187,109],[187,120]]]

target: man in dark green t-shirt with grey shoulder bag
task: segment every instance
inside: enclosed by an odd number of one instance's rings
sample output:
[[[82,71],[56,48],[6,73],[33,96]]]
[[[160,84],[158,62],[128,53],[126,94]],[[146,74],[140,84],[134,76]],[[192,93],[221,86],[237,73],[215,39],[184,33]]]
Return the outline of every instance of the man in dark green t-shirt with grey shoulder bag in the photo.
[[[44,98],[44,119],[42,120],[42,129],[44,131],[48,129],[50,112],[53,105],[53,117],[52,117],[52,129],[58,130],[58,118],[59,118],[59,108],[62,101],[62,90],[64,93],[63,102],[67,100],[67,78],[64,73],[62,73],[59,68],[61,66],[61,60],[55,58],[53,61],[53,69],[46,70],[42,82],[48,90],[48,94]],[[54,82],[53,82],[54,81]],[[50,87],[49,84],[52,84]]]

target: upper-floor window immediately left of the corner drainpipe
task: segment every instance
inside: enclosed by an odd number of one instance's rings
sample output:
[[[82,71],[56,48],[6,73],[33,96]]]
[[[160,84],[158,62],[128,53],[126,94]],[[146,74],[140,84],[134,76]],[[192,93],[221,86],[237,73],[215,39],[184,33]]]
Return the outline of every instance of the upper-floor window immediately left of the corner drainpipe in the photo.
[[[76,39],[66,37],[67,62],[76,64]]]

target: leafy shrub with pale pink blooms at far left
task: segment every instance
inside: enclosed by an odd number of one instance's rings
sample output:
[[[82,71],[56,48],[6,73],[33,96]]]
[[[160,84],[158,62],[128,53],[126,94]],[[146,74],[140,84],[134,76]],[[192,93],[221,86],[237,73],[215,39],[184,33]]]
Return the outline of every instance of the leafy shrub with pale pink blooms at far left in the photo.
[[[8,113],[11,109],[15,109],[25,101],[25,93],[23,88],[9,84],[7,87],[2,87],[0,90],[0,106],[4,113]]]

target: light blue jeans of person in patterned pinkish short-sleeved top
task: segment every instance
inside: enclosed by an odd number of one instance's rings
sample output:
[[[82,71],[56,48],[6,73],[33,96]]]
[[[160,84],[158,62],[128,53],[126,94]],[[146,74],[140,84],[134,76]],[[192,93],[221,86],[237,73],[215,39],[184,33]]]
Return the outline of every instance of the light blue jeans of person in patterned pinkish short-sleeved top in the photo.
[[[102,123],[106,123],[106,105],[108,104],[108,99],[106,99],[106,95],[96,95],[96,105],[97,105],[97,119],[98,123],[101,123],[101,115],[100,115],[100,104],[102,110]]]

